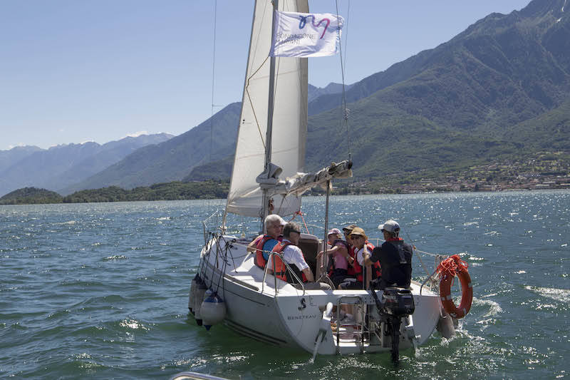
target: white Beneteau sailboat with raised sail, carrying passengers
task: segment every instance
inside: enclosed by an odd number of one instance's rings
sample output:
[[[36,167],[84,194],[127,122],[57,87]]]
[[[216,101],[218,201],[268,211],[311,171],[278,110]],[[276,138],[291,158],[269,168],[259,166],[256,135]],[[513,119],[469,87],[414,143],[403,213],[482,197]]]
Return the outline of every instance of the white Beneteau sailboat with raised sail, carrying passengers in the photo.
[[[259,218],[262,231],[270,201],[273,213],[294,215],[301,209],[301,195],[318,185],[327,189],[328,207],[331,180],[352,175],[350,160],[304,173],[308,63],[307,58],[270,56],[276,11],[308,14],[309,6],[306,0],[256,1],[227,205],[222,226],[204,234],[189,308],[199,324],[223,322],[246,337],[314,356],[393,352],[395,344],[396,351],[423,344],[445,317],[435,289],[412,282],[410,289],[397,291],[394,297],[413,300],[413,314],[390,319],[385,290],[298,289],[255,265],[246,250],[254,236],[227,233],[230,213]],[[323,221],[326,231],[328,211]],[[319,277],[316,254],[326,250],[326,242],[303,233],[299,247]],[[343,305],[357,311],[350,326],[340,321]],[[395,319],[397,327],[390,325]]]

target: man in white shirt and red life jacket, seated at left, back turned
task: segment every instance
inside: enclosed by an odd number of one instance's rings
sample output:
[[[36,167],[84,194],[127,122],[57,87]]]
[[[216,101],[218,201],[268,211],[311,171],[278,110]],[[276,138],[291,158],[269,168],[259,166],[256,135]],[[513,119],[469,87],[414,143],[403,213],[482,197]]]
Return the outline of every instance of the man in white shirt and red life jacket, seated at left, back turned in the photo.
[[[283,260],[289,264],[291,270],[293,270],[296,276],[304,282],[302,285],[294,284],[294,287],[298,289],[301,289],[302,287],[305,289],[331,289],[331,286],[329,284],[325,284],[323,282],[314,282],[315,277],[313,276],[313,272],[305,261],[305,257],[301,251],[301,248],[297,247],[297,245],[299,245],[300,238],[301,226],[299,223],[289,222],[285,225],[285,227],[283,227],[283,240],[273,248],[273,252],[280,253],[283,257]],[[273,273],[273,258],[273,255],[269,257],[269,262],[267,263],[268,273]],[[277,258],[275,260],[275,268],[276,277],[279,277],[280,279],[283,279],[284,281],[291,284],[294,283],[294,276],[289,273],[285,265],[282,265],[281,258]]]

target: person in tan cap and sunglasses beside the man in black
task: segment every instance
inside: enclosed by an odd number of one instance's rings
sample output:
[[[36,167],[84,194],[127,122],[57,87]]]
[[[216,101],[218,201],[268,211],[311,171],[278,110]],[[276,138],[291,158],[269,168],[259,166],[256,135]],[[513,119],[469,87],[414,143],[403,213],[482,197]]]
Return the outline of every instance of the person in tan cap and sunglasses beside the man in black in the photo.
[[[369,282],[380,274],[379,265],[372,263],[365,265],[365,260],[371,256],[374,246],[368,242],[368,237],[361,227],[353,228],[350,238],[353,243],[353,254],[356,257],[353,262],[356,281],[343,282],[341,289],[368,289]]]

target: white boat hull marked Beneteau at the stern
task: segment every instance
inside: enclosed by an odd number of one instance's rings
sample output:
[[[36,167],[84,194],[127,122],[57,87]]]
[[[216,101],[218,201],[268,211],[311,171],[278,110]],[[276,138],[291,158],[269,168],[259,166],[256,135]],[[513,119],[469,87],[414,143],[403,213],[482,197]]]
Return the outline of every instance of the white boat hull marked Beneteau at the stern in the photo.
[[[202,250],[204,264],[201,277],[224,299],[227,307],[224,324],[235,332],[260,342],[313,352],[328,302],[336,305],[339,300],[341,303],[358,301],[370,305],[367,308],[371,315],[375,313],[374,299],[366,290],[304,291],[270,274],[266,275],[264,283],[264,272],[254,265],[253,255],[246,255],[247,243],[236,237],[222,236],[217,240],[214,238]],[[212,250],[209,247],[213,247]],[[437,294],[429,289],[423,289],[420,294],[417,282],[413,282],[411,291],[415,312],[400,330],[400,349],[407,349],[414,343],[423,344],[440,319]],[[382,291],[377,291],[377,294],[381,297]],[[390,350],[389,342],[382,341],[381,333],[365,335],[367,337],[362,339],[358,326],[356,329],[354,326],[341,327],[338,331],[333,326],[319,338],[321,342],[317,353],[355,354]]]

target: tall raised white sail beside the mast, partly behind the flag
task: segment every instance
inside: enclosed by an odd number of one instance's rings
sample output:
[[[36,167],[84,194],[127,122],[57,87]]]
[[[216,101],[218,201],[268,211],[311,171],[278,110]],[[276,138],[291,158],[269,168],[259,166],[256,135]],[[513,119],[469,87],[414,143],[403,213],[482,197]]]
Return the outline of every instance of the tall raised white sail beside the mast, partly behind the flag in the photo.
[[[307,1],[281,0],[280,11],[309,12]],[[269,99],[269,51],[273,6],[269,0],[255,4],[252,39],[239,118],[236,154],[226,212],[259,217],[261,190],[256,182],[264,171]],[[304,171],[307,128],[307,58],[276,58],[271,162],[283,169],[281,178]],[[274,198],[275,213],[299,211],[301,197]]]

